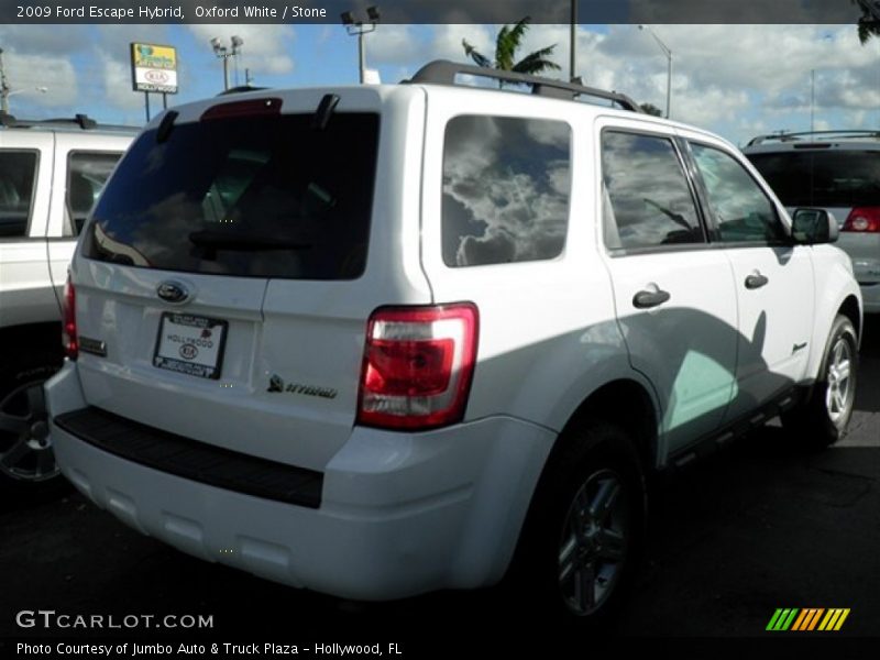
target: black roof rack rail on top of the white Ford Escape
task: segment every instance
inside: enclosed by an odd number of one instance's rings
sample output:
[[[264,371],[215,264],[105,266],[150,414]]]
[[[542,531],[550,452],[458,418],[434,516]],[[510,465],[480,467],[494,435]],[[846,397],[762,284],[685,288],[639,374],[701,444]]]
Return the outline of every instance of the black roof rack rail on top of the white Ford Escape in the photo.
[[[413,76],[409,80],[404,80],[404,82],[454,86],[455,76],[460,74],[479,76],[481,78],[494,78],[496,80],[502,80],[503,82],[531,85],[531,94],[556,99],[574,100],[579,96],[590,96],[600,99],[606,99],[617,103],[624,108],[624,110],[641,112],[641,108],[639,108],[636,101],[630,99],[628,96],[618,94],[616,91],[606,91],[604,89],[586,87],[575,82],[553,80],[551,78],[530,76],[528,74],[519,74],[516,72],[492,69],[482,66],[473,66],[470,64],[459,64],[457,62],[449,62],[448,59],[436,59],[435,62],[426,64],[416,73],[415,76]]]

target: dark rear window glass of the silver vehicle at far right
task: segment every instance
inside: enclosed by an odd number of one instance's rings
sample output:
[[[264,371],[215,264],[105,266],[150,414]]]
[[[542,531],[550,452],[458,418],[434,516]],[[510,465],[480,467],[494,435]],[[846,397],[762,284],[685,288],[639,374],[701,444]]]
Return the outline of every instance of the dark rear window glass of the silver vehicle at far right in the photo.
[[[880,151],[749,154],[788,207],[880,206]]]

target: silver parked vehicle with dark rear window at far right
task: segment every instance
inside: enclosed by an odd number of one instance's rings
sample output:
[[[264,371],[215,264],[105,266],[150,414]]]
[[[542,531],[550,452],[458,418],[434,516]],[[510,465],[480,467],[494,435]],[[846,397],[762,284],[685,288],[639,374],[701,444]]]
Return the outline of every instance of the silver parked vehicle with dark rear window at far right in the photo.
[[[880,312],[880,131],[761,135],[743,151],[787,207],[837,218],[865,311]]]

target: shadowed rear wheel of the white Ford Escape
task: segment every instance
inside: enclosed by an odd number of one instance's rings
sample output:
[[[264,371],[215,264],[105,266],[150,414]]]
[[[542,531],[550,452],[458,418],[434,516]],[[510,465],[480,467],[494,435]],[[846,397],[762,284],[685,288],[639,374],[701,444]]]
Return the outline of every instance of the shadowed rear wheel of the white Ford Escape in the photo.
[[[580,425],[560,442],[529,509],[512,580],[528,613],[607,630],[642,557],[641,461],[627,433],[606,422]]]

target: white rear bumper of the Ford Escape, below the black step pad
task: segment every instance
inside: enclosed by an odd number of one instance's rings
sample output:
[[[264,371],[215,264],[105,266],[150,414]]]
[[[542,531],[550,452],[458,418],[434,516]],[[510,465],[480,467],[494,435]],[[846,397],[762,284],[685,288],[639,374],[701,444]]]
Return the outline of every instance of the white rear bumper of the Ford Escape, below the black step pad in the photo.
[[[68,363],[51,417],[87,403]],[[207,561],[343,597],[388,600],[499,580],[554,436],[510,418],[419,435],[354,428],[318,508],[190,481],[52,422],[58,464],[129,526]]]

